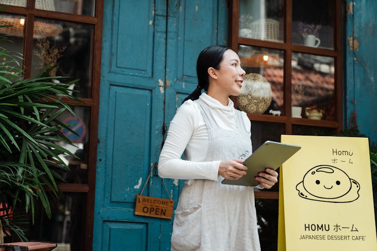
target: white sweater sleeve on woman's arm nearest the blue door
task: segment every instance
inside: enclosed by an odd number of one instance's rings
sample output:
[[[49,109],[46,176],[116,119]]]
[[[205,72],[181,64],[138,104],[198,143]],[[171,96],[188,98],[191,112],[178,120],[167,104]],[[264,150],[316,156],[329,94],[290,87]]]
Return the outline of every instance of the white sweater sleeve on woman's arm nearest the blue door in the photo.
[[[186,150],[186,151],[185,151]],[[170,122],[158,174],[172,179],[218,180],[219,161],[205,161],[208,132],[197,105],[184,102]],[[185,151],[185,159],[181,155]]]

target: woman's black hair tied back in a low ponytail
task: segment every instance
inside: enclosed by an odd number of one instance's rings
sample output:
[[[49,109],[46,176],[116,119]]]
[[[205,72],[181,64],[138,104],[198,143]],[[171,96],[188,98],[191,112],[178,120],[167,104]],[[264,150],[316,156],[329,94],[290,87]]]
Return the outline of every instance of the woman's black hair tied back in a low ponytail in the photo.
[[[183,100],[183,102],[188,99],[198,99],[200,94],[202,93],[202,89],[204,89],[205,91],[208,90],[208,68],[213,67],[217,70],[220,69],[220,63],[223,60],[224,52],[228,49],[230,48],[223,45],[213,45],[207,47],[199,54],[197,60],[198,86],[189,96],[187,96]]]

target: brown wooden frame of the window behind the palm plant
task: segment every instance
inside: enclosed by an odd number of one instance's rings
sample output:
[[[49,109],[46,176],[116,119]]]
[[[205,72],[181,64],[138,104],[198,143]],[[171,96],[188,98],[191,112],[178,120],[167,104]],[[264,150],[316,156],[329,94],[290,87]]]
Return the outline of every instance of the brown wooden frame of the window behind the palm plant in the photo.
[[[0,4],[0,6],[4,6]],[[25,39],[24,39],[24,77],[31,77],[32,48],[33,48],[33,28],[35,18],[44,18],[58,21],[76,22],[81,24],[92,25],[93,48],[92,48],[92,81],[91,96],[80,98],[85,103],[72,101],[68,98],[62,98],[63,101],[81,107],[90,107],[90,134],[88,145],[88,182],[87,184],[58,184],[62,192],[81,192],[86,193],[86,219],[83,239],[84,250],[92,249],[93,235],[93,214],[95,202],[95,185],[96,185],[96,163],[97,163],[97,143],[98,143],[98,119],[99,119],[99,99],[100,99],[100,81],[101,81],[101,52],[102,52],[102,27],[103,27],[103,10],[104,0],[95,0],[95,16],[81,16],[75,14],[51,12],[38,10],[34,8],[35,0],[28,0],[26,7],[9,6],[3,13],[17,14],[26,16],[25,20]]]

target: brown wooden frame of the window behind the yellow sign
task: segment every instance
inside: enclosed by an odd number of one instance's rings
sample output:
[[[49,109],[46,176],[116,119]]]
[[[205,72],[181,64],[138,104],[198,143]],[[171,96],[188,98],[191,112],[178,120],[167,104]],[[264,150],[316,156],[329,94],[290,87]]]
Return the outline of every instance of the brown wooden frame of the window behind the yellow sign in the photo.
[[[284,24],[284,42],[271,42],[265,40],[257,40],[243,38],[238,36],[238,20],[239,20],[239,0],[229,0],[229,47],[235,52],[238,51],[238,45],[258,46],[268,49],[284,51],[284,109],[285,116],[272,116],[266,114],[247,113],[250,120],[261,122],[274,122],[285,124],[285,133],[292,135],[292,126],[312,126],[322,128],[336,129],[339,133],[343,128],[343,80],[342,80],[342,13],[343,5],[341,0],[335,0],[335,24],[334,24],[334,49],[323,49],[307,47],[292,43],[292,1],[285,1],[285,24]],[[335,96],[335,114],[336,120],[313,120],[308,118],[292,117],[292,52],[308,53],[320,56],[334,58],[334,96]],[[236,105],[236,99],[233,99]],[[255,198],[260,199],[278,199],[278,192],[256,191]]]

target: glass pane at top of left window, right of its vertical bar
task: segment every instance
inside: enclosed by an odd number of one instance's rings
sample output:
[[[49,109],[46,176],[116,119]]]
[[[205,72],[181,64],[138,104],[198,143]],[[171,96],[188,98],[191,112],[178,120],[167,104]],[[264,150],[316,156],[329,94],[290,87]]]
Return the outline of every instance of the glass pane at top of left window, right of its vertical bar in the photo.
[[[35,0],[35,9],[94,16],[95,0]]]

